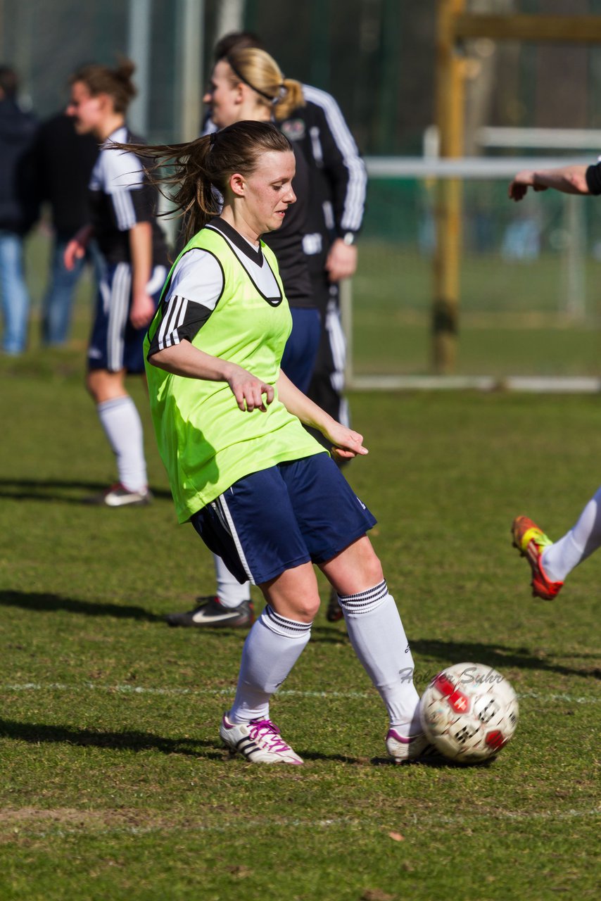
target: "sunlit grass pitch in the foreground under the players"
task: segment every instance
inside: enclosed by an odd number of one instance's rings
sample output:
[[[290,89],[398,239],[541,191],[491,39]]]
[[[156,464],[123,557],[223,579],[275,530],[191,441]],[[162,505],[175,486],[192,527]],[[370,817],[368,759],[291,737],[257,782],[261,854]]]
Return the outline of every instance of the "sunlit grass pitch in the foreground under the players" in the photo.
[[[244,634],[162,621],[212,564],[175,521],[135,383],[156,502],[82,503],[114,478],[83,357],[0,359],[3,901],[598,896],[601,555],[535,602],[509,539],[519,512],[559,534],[596,489],[598,398],[351,397],[370,454],[349,478],[418,687],[483,662],[521,720],[490,766],[390,765],[379,698],[319,614],[272,705],[305,767],[261,768],[217,738]]]

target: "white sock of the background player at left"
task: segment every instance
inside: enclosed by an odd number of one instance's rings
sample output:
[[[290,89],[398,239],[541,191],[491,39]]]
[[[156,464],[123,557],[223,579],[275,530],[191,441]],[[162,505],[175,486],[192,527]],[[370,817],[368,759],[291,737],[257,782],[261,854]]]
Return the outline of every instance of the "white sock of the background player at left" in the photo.
[[[114,456],[119,481],[128,491],[148,485],[140,414],[129,395],[105,400],[96,407]]]

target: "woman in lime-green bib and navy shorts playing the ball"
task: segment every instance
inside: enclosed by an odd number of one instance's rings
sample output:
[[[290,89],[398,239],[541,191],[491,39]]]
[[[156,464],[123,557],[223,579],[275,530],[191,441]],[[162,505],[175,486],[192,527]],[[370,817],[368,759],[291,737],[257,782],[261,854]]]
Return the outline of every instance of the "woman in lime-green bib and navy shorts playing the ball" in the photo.
[[[387,707],[388,752],[414,759],[425,739],[406,676],[413,663],[366,534],[375,519],[301,422],[341,456],[367,451],[358,432],[280,369],[291,317],[260,235],[280,228],[296,199],[291,145],[270,123],[240,122],[147,152],[176,165],[174,199],[196,232],[171,269],[145,343],[159,451],[179,521],[191,521],[266,600],[244,644],[223,742],[252,762],[303,762],[272,723],[269,698],[309,641],[319,607],[315,563],[336,588],[352,646]]]

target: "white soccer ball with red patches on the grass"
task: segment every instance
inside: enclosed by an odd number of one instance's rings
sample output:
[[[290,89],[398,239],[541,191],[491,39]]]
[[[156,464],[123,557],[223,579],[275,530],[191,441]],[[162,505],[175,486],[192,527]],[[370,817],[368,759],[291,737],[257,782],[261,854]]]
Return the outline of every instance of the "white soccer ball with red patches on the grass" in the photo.
[[[437,751],[460,763],[478,763],[495,757],[513,736],[517,696],[496,669],[456,663],[425,689],[420,716]]]

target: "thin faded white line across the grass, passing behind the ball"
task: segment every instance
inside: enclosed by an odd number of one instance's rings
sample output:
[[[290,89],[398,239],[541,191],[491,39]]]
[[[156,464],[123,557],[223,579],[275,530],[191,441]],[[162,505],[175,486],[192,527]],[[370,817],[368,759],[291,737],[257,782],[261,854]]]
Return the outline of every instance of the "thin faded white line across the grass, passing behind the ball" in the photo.
[[[0,685],[0,693],[9,691],[64,691],[66,693],[76,694],[81,691],[106,691],[114,694],[122,695],[182,695],[182,696],[232,696],[235,687],[229,688],[175,688],[175,687],[143,687],[139,685],[99,685],[95,682],[82,682],[79,684],[67,684],[62,682],[23,682],[15,684]],[[278,691],[279,696],[284,697],[324,697],[324,698],[369,698],[373,697],[373,692],[366,691],[296,691],[283,690]],[[578,696],[563,694],[541,694],[536,691],[525,691],[518,695],[520,700],[533,698],[537,701],[568,701],[569,704],[598,704],[601,700],[599,696]]]

